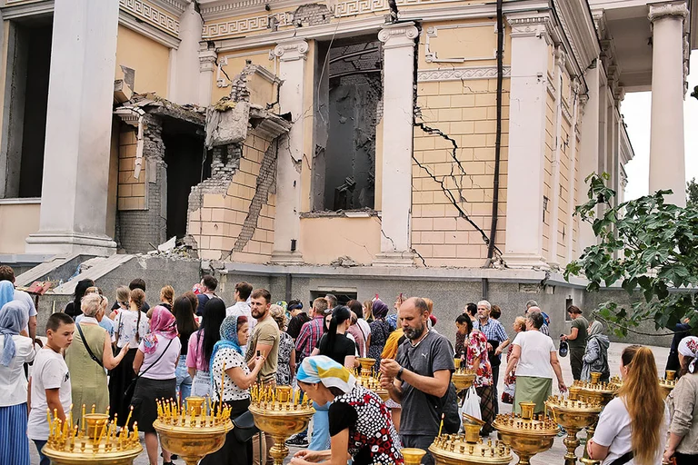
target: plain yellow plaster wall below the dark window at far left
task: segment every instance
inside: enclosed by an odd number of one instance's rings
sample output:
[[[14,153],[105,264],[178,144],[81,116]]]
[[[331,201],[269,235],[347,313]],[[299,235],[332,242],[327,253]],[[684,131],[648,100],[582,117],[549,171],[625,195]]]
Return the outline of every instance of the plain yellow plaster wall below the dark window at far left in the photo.
[[[0,203],[0,253],[24,253],[25,239],[39,231],[41,201]]]

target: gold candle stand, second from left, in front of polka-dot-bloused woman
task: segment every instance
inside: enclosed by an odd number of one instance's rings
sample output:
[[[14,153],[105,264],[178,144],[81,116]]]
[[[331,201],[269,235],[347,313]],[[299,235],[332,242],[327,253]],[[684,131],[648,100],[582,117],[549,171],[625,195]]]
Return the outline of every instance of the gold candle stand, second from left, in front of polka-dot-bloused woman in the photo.
[[[187,410],[173,401],[157,401],[157,420],[153,427],[160,435],[163,449],[179,455],[187,465],[196,465],[204,456],[223,447],[225,435],[233,429],[230,408],[208,398],[187,397]]]

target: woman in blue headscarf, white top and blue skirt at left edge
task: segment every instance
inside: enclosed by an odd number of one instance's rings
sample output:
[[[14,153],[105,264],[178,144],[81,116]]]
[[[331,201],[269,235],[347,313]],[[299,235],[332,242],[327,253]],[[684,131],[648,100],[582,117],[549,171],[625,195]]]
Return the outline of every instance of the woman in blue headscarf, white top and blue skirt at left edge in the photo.
[[[0,463],[29,465],[24,365],[34,360],[35,351],[32,340],[19,335],[26,323],[22,302],[3,305],[0,310]]]

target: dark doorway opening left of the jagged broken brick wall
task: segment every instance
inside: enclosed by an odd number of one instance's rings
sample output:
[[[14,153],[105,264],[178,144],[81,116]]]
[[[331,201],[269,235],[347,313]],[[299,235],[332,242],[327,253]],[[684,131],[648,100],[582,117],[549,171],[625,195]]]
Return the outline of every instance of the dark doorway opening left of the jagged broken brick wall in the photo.
[[[204,136],[194,126],[175,120],[163,124],[167,164],[167,237],[186,234],[189,193],[211,177],[212,152],[204,147]]]

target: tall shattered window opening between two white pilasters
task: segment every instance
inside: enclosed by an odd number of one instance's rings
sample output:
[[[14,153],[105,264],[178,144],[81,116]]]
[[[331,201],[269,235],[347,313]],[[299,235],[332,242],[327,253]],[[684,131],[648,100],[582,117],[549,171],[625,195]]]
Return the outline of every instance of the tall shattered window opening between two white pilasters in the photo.
[[[383,54],[374,37],[318,47],[314,210],[374,208]]]

